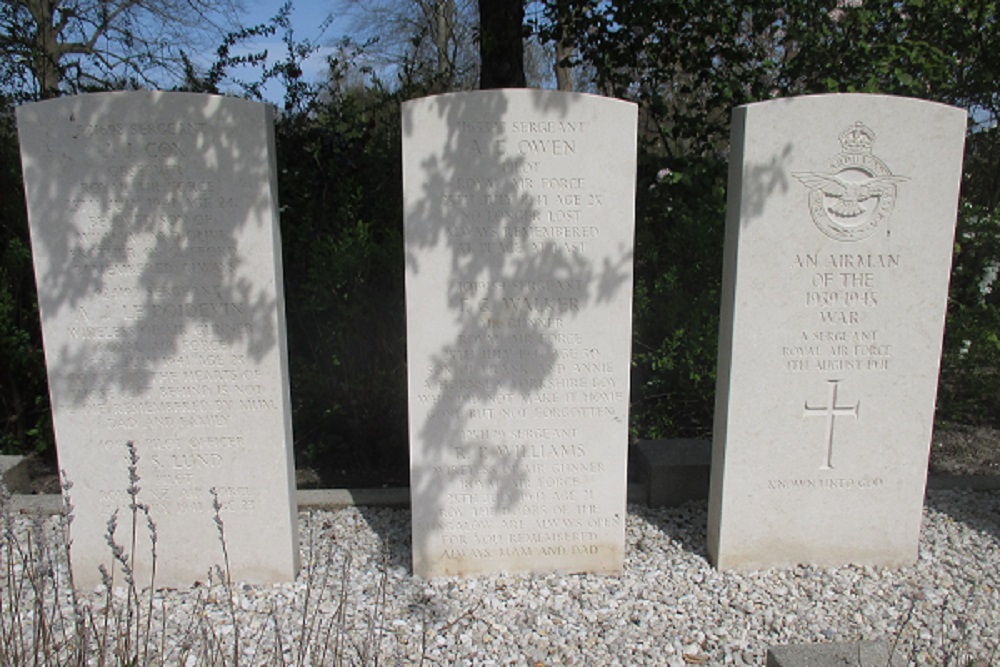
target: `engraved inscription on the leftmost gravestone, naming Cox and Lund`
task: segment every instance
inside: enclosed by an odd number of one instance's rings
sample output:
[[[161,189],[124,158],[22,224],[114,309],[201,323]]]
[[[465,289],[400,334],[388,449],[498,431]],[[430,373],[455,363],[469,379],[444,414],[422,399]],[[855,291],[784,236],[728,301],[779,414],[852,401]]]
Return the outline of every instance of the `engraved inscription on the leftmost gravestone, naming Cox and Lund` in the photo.
[[[77,123],[77,151],[100,160],[65,183],[60,202],[73,226],[64,270],[93,288],[62,321],[85,353],[56,376],[53,404],[90,420],[92,442],[113,458],[136,443],[160,515],[210,510],[209,480],[246,451],[241,413],[280,409],[280,392],[232,342],[256,332],[251,303],[231,289],[246,261],[230,220],[242,184],[206,170],[199,148],[218,132],[209,122]],[[226,511],[254,506],[254,487],[220,489]],[[102,511],[121,501],[100,491]]]

